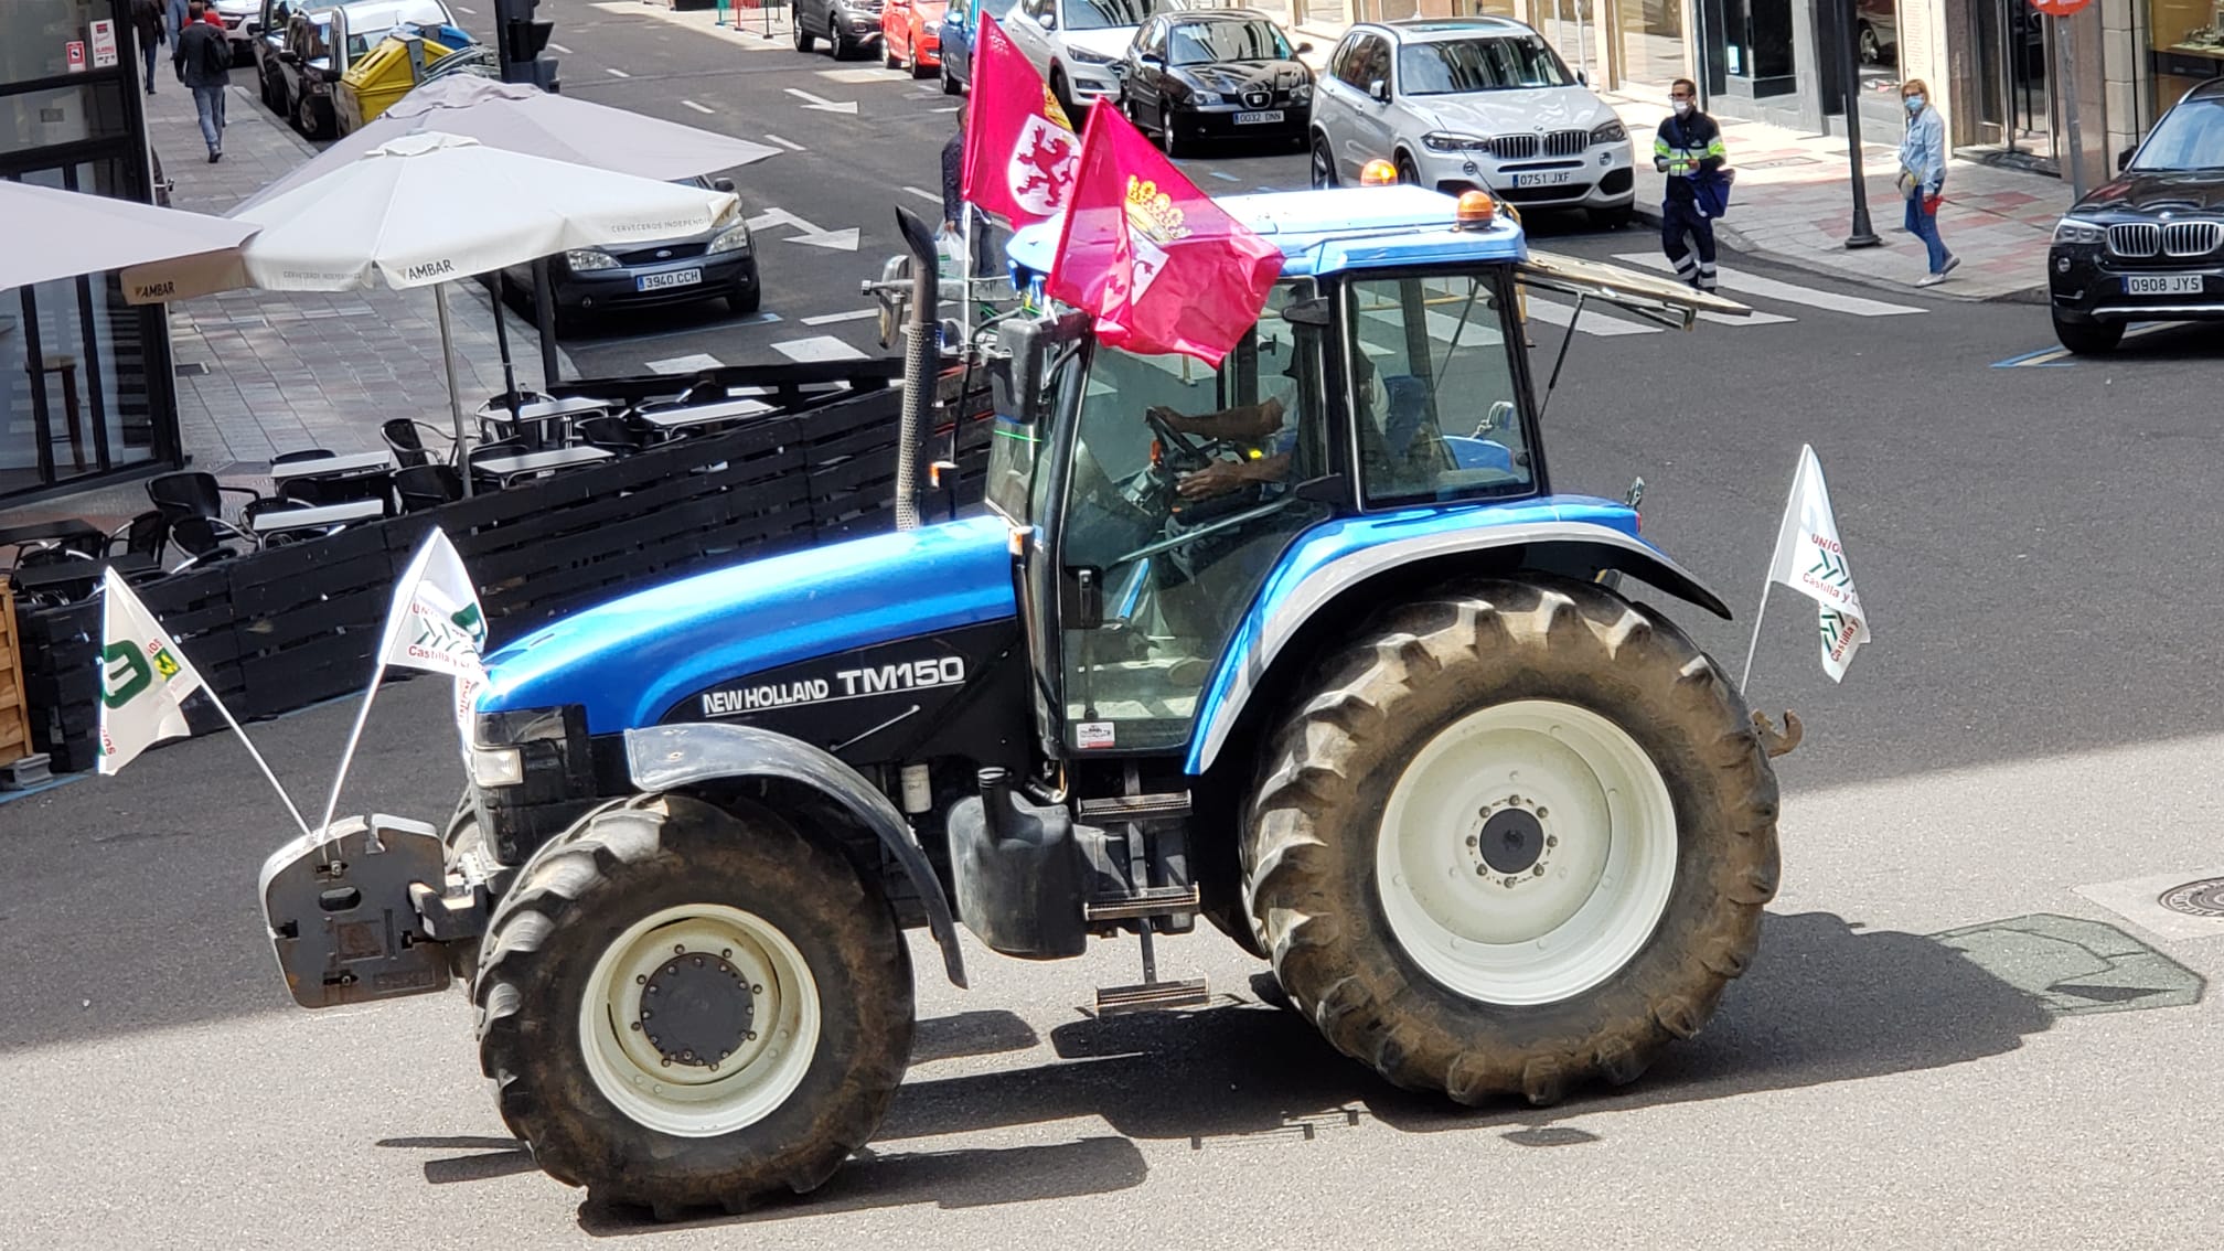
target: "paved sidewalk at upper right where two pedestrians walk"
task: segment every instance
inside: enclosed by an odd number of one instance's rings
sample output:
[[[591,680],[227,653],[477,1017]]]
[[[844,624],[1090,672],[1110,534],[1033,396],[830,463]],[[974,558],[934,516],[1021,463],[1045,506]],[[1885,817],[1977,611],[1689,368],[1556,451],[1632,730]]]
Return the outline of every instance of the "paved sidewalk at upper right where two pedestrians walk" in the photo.
[[[1659,225],[1661,185],[1652,169],[1652,134],[1668,105],[1601,96],[1637,145],[1637,214]],[[1899,136],[1861,145],[1868,185],[1868,223],[1882,247],[1846,249],[1853,227],[1853,191],[1841,136],[1810,136],[1764,122],[1715,118],[1730,149],[1737,185],[1730,211],[1715,236],[1739,252],[1753,252],[1837,278],[1908,287],[1928,272],[1924,245],[1902,229]],[[2055,220],[2071,205],[2071,187],[2044,174],[1997,169],[1970,160],[1946,167],[1946,203],[1939,236],[1962,258],[1950,278],[1930,287],[1933,296],[1966,301],[2044,303],[2046,245]]]

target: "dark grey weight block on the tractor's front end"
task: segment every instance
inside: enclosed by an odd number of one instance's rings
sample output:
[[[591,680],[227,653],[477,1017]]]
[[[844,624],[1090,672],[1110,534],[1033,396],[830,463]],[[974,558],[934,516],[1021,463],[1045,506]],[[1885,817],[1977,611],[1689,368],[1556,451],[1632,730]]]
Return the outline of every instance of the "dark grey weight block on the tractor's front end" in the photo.
[[[445,991],[440,939],[485,928],[483,895],[451,886],[440,835],[400,817],[349,817],[271,853],[262,915],[294,1002],[334,1008]],[[436,904],[438,930],[425,904]]]

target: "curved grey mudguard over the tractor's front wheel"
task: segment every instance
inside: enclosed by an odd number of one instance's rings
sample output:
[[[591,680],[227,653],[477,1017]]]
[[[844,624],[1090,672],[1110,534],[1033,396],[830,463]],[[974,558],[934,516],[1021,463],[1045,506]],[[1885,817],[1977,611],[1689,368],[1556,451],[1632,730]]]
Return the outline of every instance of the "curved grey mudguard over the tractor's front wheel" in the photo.
[[[965,986],[965,957],[959,953],[959,930],[950,915],[950,897],[934,877],[912,826],[874,784],[832,755],[754,726],[649,726],[625,732],[625,768],[643,792],[672,790],[701,781],[772,777],[798,781],[841,804],[845,812],[878,835],[881,846],[896,857],[919,890],[927,910],[927,928],[943,948],[943,968],[954,986]]]

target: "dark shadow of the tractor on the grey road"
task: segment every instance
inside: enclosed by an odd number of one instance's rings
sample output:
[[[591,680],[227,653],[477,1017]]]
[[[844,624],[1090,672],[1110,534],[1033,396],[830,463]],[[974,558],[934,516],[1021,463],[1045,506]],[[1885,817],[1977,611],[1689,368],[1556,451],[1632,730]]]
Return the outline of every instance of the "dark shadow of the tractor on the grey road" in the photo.
[[[1864,930],[1830,913],[1770,915],[1764,928],[1761,957],[1699,1037],[1670,1046],[1632,1086],[1577,1091],[1552,1109],[1517,1100],[1461,1109],[1399,1091],[1279,1006],[1274,979],[1261,973],[1252,995],[1223,995],[1212,1008],[1056,1026],[1052,1062],[905,1082],[872,1146],[812,1195],[678,1224],[583,1204],[578,1222],[594,1235],[632,1235],[1112,1193],[1148,1180],[1139,1142],[1290,1151],[1323,1135],[1390,1129],[1583,1146],[1612,1122],[1568,1122],[1968,1064],[2010,1053],[2053,1024],[2037,999],[1922,935]],[[921,1022],[914,1057],[1021,1051],[1032,1040],[1032,1026],[1010,1013],[961,1013]],[[950,1142],[1074,1117],[1110,1124],[1112,1135],[1081,1129],[1083,1137],[1054,1144],[905,1151],[907,1140]],[[1159,1162],[1168,1166],[1163,1153]]]

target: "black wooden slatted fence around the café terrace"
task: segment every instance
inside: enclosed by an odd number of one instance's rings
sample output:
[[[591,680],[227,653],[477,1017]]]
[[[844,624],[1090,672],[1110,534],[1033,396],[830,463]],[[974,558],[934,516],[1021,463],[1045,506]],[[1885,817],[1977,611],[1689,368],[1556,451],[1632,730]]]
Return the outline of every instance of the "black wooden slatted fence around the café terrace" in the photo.
[[[709,370],[694,378],[596,378],[560,394],[647,398],[689,383],[770,387],[783,412],[609,465],[520,483],[138,588],[147,608],[242,721],[360,690],[394,581],[440,525],[478,583],[492,643],[627,590],[774,552],[894,528],[901,392],[894,361]],[[985,403],[943,378],[927,454],[956,445],[956,483],[923,505],[981,499]],[[963,421],[952,412],[965,412]],[[925,459],[923,459],[925,461]],[[93,768],[100,601],[22,610],[33,741],[56,772]],[[396,672],[400,677],[400,672]],[[202,701],[193,732],[222,726]]]

